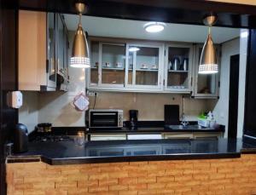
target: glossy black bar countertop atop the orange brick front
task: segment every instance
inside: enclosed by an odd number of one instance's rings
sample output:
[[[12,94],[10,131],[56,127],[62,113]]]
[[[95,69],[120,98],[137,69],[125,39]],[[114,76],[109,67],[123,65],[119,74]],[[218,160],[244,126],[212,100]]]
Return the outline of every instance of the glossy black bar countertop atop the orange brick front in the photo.
[[[137,140],[30,142],[29,151],[7,158],[7,163],[43,161],[52,165],[114,163],[172,159],[240,158],[255,153],[256,143],[228,140]]]

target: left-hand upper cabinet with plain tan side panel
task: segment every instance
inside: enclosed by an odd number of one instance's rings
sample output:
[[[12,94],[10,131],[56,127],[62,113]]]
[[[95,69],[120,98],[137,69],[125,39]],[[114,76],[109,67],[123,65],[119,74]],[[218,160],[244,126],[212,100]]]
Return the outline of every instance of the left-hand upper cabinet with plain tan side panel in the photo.
[[[67,90],[68,37],[61,14],[19,11],[19,90]]]

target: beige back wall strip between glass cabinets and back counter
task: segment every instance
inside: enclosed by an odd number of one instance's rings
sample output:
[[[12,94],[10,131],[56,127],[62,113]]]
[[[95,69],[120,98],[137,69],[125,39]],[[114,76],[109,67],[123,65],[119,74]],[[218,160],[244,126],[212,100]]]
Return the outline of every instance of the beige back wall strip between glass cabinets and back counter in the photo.
[[[211,102],[212,100],[185,98],[184,113],[189,120],[195,120],[196,115],[212,109]],[[90,108],[93,107],[93,104],[94,97],[90,97]],[[122,109],[125,120],[129,120],[129,110],[131,109],[139,111],[139,120],[164,120],[165,105],[179,105],[181,115],[182,95],[100,92],[96,98],[95,108]]]

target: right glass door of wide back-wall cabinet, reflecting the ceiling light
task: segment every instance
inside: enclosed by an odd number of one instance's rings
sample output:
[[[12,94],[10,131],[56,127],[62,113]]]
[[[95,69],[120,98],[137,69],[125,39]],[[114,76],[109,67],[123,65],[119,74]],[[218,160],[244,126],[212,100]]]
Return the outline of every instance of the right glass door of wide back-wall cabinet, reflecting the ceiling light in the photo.
[[[161,54],[159,45],[127,44],[127,88],[160,89]]]

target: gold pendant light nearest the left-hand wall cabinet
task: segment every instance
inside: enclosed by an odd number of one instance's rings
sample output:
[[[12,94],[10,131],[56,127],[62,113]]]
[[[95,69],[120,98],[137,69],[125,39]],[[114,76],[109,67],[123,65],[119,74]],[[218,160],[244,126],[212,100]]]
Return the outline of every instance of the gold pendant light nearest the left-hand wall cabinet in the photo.
[[[70,59],[70,66],[88,68],[90,67],[88,42],[81,24],[81,18],[85,10],[85,4],[76,3],[75,7],[79,13],[79,26],[73,39],[73,49]]]

